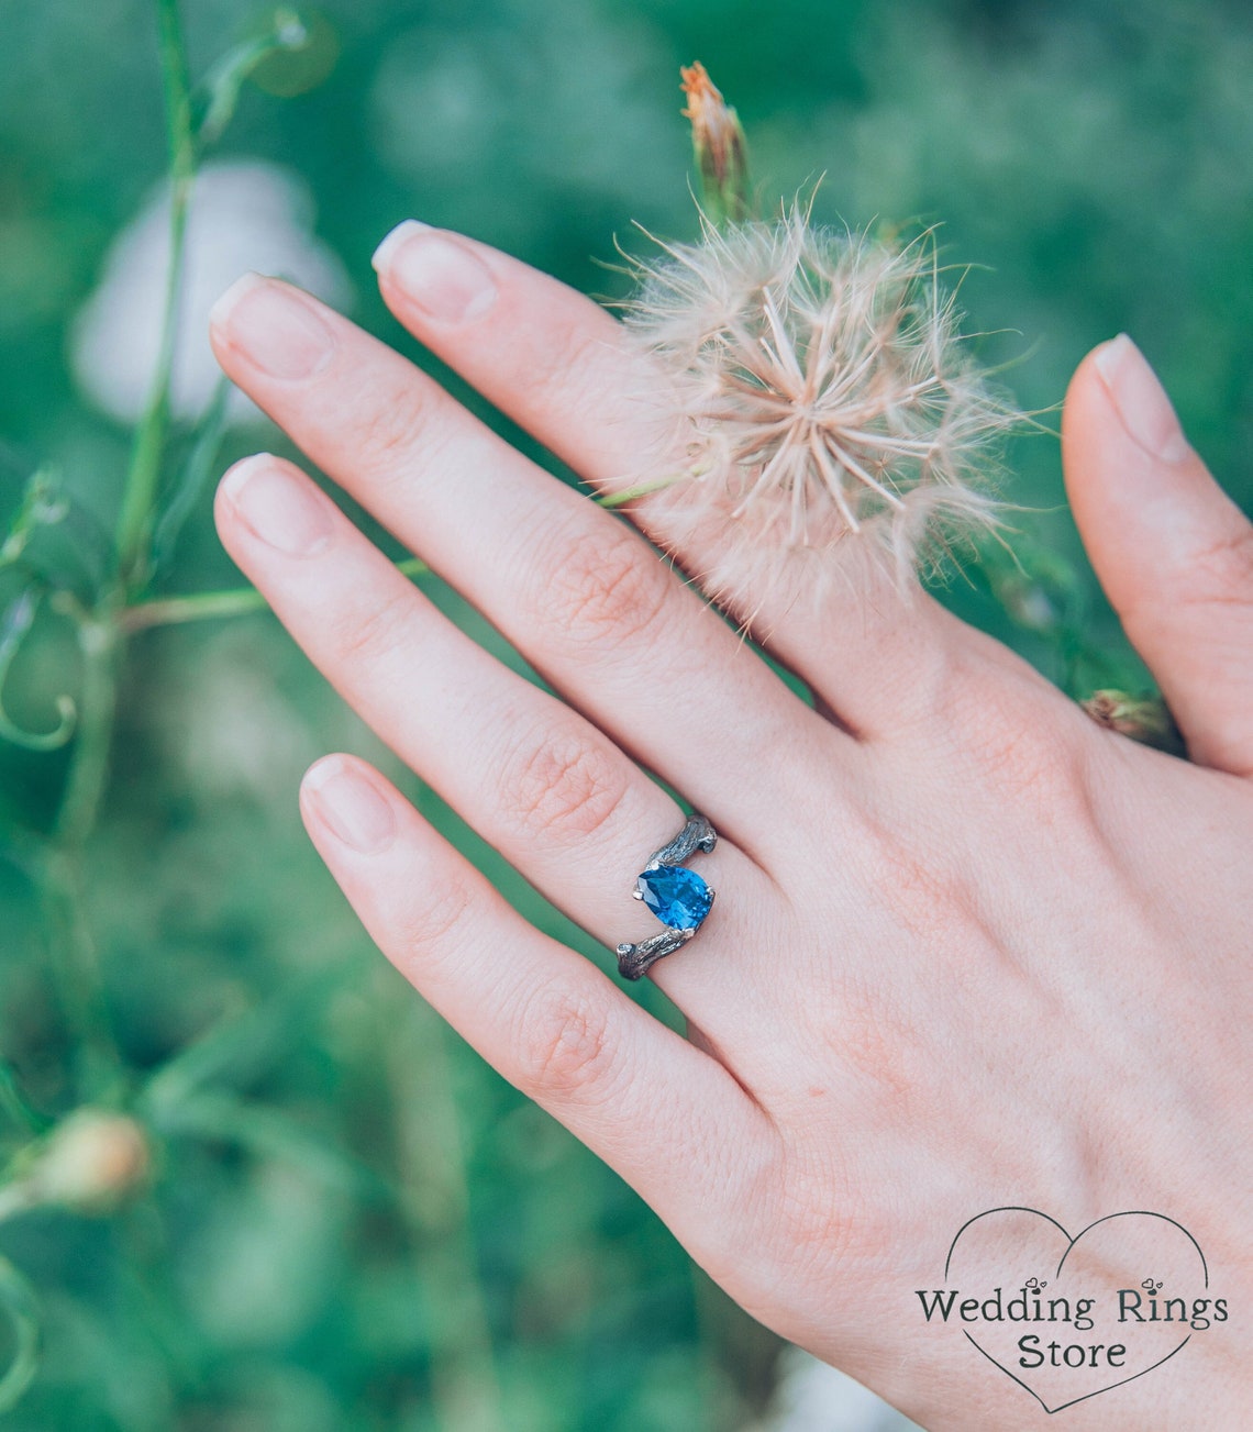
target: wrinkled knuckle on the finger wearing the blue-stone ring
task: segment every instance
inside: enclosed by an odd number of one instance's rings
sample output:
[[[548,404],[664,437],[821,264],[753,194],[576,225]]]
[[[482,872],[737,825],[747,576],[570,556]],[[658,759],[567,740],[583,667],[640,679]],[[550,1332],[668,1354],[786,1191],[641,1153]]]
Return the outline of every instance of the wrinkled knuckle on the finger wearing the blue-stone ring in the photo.
[[[533,833],[593,835],[627,793],[627,772],[597,742],[570,729],[531,733],[503,763],[501,805]]]

